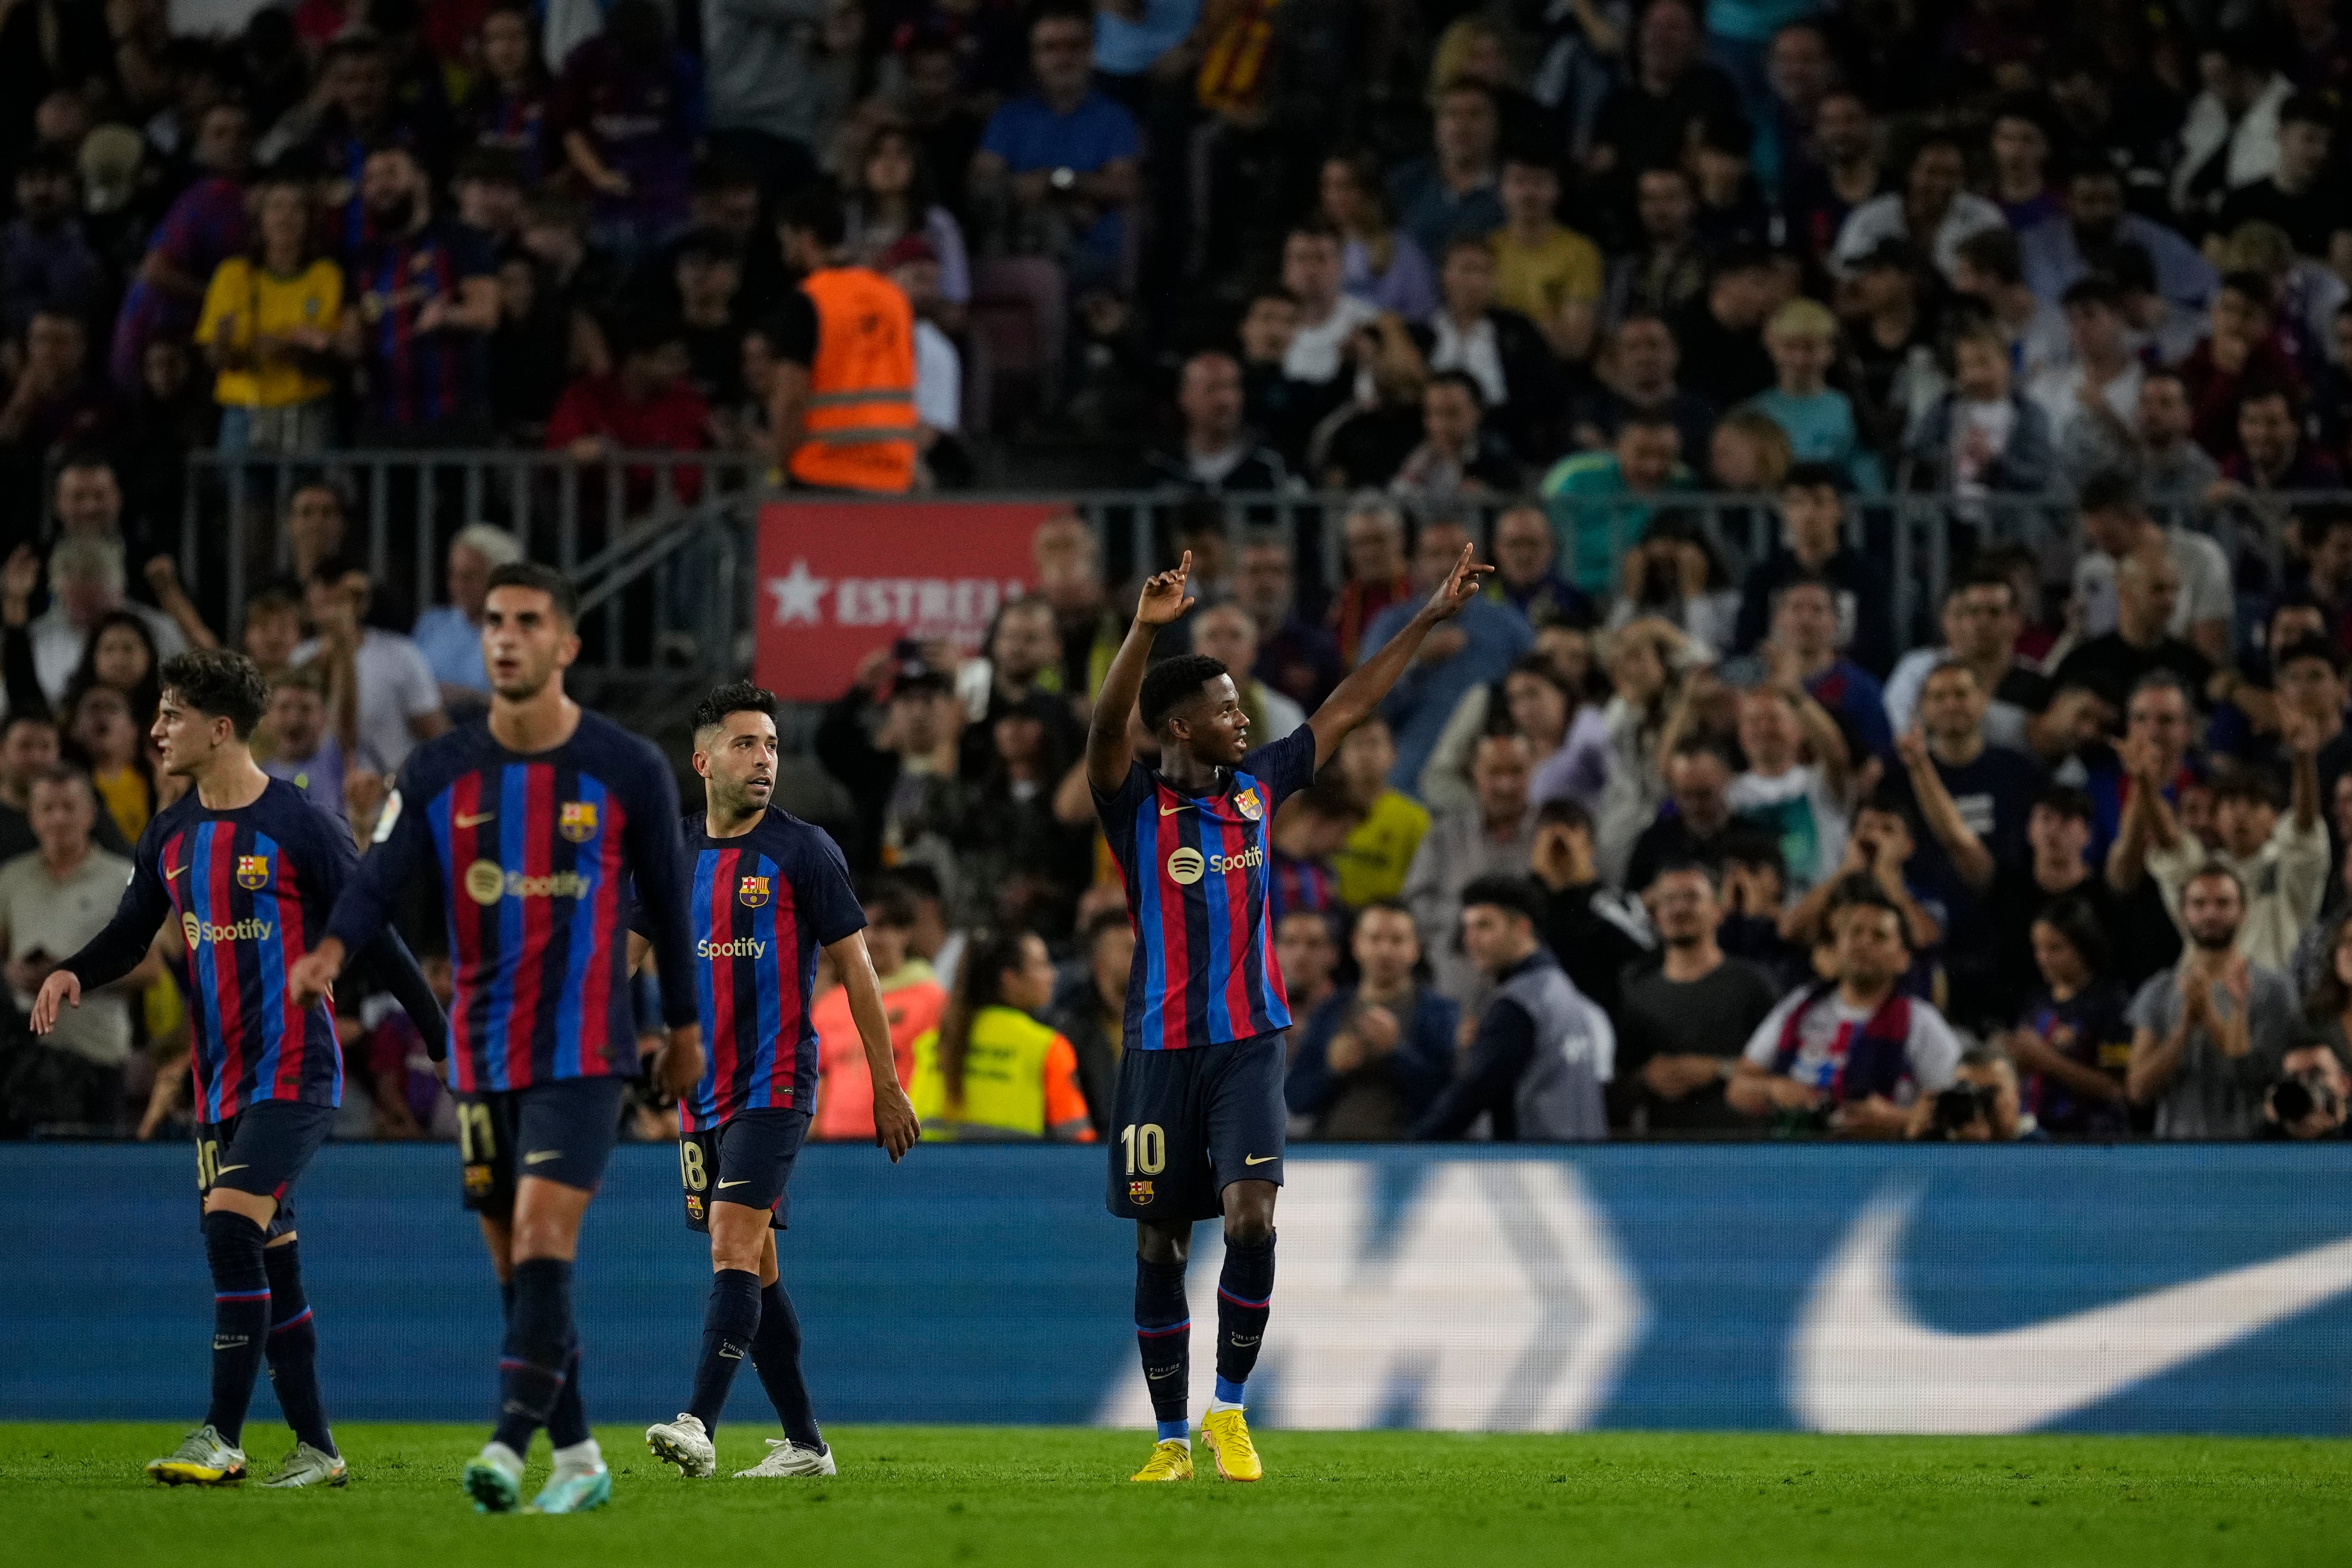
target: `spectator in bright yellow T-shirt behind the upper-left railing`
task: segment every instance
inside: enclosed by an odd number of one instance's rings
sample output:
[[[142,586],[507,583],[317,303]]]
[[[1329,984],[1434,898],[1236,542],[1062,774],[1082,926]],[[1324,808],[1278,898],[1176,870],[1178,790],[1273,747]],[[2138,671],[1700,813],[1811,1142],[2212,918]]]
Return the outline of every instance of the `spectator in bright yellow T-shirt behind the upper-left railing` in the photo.
[[[266,179],[254,212],[254,254],[212,273],[195,322],[219,371],[221,451],[320,451],[334,437],[343,268],[313,249],[303,181]]]

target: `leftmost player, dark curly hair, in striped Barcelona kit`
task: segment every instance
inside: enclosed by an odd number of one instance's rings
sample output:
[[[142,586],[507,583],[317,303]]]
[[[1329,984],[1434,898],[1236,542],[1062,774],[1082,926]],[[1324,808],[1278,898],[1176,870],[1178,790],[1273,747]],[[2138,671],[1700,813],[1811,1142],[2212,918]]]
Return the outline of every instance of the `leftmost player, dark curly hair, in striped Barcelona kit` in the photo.
[[[33,1032],[47,1034],[82,990],[132,973],[165,914],[188,943],[195,1048],[195,1190],[212,1262],[212,1408],[148,1474],[167,1486],[245,1479],[245,1406],[268,1356],[294,1453],[263,1486],[343,1486],[343,1455],[318,1392],[318,1326],[301,1288],[287,1192],[343,1103],[334,1016],[296,997],[287,971],[325,936],[327,912],[360,865],[350,830],[254,764],[247,741],[270,689],[245,654],[202,649],[165,661],[155,748],[195,788],[139,835],[115,917],[42,983]],[[369,954],[442,1053],[433,987],[400,938]]]

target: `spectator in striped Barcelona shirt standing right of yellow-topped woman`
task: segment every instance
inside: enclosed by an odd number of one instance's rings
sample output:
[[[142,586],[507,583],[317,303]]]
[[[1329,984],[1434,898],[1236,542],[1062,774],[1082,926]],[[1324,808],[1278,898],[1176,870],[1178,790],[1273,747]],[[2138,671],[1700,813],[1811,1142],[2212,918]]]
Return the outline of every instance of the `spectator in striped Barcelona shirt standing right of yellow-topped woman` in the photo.
[[[360,174],[367,242],[350,256],[355,308],[341,348],[367,371],[362,442],[480,440],[489,418],[487,336],[499,327],[489,252],[433,216],[433,186],[402,146],[367,155]]]

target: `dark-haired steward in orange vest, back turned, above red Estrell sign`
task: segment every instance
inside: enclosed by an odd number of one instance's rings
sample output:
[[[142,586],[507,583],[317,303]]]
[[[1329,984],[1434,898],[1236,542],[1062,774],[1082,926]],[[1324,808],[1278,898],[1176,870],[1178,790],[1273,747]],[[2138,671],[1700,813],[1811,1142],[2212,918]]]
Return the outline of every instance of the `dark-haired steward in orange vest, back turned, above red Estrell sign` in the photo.
[[[816,353],[776,378],[779,458],[797,484],[898,494],[915,484],[915,310],[889,277],[842,266],[844,228],[826,188],[804,190],[783,216],[786,259],[807,270]]]

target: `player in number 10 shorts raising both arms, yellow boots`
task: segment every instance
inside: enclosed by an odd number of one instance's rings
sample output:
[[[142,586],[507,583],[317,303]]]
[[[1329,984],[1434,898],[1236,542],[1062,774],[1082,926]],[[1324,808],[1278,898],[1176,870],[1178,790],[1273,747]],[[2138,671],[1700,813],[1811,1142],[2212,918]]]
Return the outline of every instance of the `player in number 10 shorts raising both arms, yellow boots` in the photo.
[[[1303,790],[1388,696],[1430,630],[1477,597],[1494,567],[1470,564],[1463,545],[1421,614],[1343,679],[1305,729],[1258,750],[1249,750],[1249,717],[1225,665],[1200,654],[1150,665],[1157,630],[1192,609],[1183,592],[1190,571],[1185,552],[1176,571],[1143,583],[1087,731],[1087,783],[1136,926],[1110,1213],[1136,1220],[1136,1342],[1160,1420],[1160,1443],[1134,1479],[1192,1479],[1183,1272],[1192,1222],[1223,1215],[1216,1399],[1200,1434],[1221,1476],[1256,1481],[1263,1465],[1242,1415],[1242,1385],[1275,1295],[1282,1030],[1291,1023],[1265,914],[1265,830],[1282,799]],[[1160,741],[1157,773],[1134,759],[1127,741],[1138,691],[1143,729]]]

